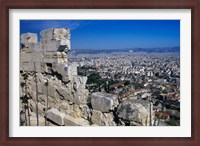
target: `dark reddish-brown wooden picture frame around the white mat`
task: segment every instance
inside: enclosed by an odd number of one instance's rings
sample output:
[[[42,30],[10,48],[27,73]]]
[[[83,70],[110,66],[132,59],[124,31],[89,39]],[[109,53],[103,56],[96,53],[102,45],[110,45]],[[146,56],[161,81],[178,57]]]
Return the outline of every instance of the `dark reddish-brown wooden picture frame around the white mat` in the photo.
[[[10,9],[191,9],[192,11],[192,136],[184,137],[9,137],[9,10]],[[0,145],[152,145],[199,146],[200,0],[3,0],[1,2],[1,143]],[[187,98],[187,97],[186,97]],[[68,131],[66,131],[68,132]],[[172,131],[173,132],[173,131]]]

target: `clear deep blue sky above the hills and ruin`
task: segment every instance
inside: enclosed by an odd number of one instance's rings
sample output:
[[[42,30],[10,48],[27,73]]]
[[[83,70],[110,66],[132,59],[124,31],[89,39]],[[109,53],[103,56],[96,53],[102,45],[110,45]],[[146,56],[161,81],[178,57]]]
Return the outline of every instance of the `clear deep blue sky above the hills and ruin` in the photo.
[[[179,20],[21,20],[20,34],[70,28],[71,49],[180,46]],[[39,37],[40,38],[40,37]]]

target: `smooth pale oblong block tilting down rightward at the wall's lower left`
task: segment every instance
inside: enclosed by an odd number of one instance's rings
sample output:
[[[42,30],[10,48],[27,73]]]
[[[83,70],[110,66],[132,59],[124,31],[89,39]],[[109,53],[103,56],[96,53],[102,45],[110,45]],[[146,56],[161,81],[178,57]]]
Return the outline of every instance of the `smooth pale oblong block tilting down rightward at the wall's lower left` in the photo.
[[[64,117],[65,114],[61,113],[60,111],[58,111],[58,109],[55,108],[51,108],[50,110],[48,110],[45,114],[46,118],[55,122],[58,125],[64,125]]]

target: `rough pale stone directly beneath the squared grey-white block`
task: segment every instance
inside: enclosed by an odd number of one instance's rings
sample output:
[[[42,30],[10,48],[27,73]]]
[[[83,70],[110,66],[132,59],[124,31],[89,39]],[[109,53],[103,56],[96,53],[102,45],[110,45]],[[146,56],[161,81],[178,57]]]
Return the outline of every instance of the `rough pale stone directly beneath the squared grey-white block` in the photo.
[[[91,120],[92,123],[99,126],[116,126],[112,113],[102,113],[100,111],[93,110]]]

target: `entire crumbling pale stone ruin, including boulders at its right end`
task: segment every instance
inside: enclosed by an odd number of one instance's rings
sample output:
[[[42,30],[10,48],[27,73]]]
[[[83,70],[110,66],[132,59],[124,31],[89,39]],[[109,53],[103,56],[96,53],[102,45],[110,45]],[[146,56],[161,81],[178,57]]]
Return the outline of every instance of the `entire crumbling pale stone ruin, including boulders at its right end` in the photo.
[[[117,96],[101,92],[89,95],[87,77],[77,75],[77,64],[67,59],[69,29],[47,29],[40,35],[40,42],[37,34],[21,35],[21,125],[149,125],[148,103],[120,103]]]

